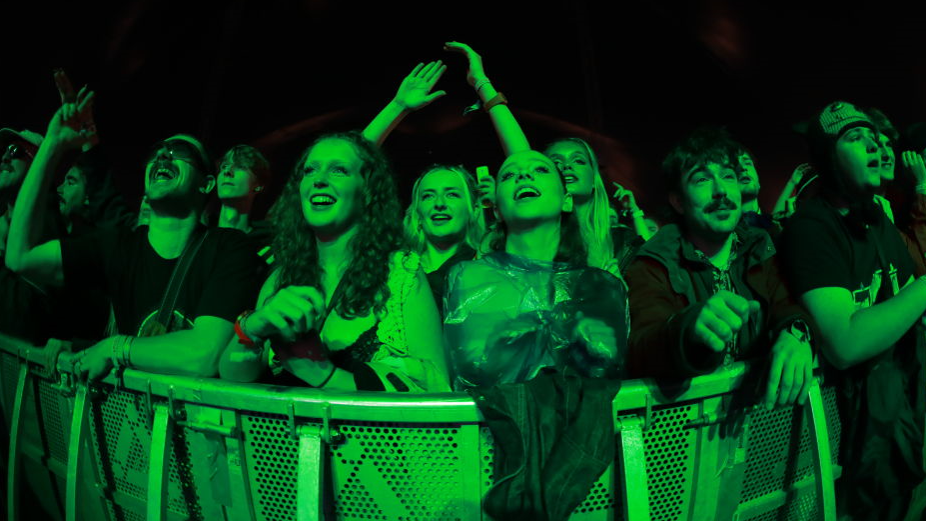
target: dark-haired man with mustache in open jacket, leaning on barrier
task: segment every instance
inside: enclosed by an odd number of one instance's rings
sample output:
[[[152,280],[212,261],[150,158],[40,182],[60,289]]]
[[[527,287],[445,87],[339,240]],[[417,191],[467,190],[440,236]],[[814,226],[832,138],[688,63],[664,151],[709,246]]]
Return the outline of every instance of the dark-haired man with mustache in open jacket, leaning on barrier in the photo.
[[[758,359],[767,407],[803,403],[810,328],[779,277],[768,233],[740,223],[736,168],[735,143],[714,128],[690,135],[663,163],[677,219],[625,275],[631,376],[689,378]]]

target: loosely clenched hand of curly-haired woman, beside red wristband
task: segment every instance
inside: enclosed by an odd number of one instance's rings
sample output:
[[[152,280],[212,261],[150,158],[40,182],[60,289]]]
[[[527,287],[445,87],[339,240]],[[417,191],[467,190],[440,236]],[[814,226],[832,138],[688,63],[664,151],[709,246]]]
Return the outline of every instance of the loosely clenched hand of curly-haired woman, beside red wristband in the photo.
[[[251,338],[280,337],[287,342],[308,333],[325,313],[325,297],[310,286],[287,286],[244,321]]]

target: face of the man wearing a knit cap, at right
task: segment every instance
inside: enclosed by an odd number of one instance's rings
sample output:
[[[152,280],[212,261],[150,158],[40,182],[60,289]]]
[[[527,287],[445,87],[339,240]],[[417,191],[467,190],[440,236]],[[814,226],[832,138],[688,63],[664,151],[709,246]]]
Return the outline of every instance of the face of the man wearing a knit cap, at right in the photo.
[[[881,186],[881,151],[877,133],[868,127],[847,130],[836,141],[835,165],[843,183],[858,193]]]

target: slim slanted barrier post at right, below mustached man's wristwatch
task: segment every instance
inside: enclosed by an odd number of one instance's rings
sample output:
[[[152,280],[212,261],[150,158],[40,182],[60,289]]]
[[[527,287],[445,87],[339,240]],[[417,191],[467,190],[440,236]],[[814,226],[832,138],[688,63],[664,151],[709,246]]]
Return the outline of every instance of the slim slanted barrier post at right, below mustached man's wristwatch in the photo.
[[[813,453],[814,474],[816,474],[817,481],[817,502],[820,512],[823,514],[823,521],[836,521],[836,485],[833,479],[833,460],[819,380],[814,379],[810,385],[808,398],[808,403],[804,406],[804,413],[807,415],[807,425],[810,428],[811,452]]]

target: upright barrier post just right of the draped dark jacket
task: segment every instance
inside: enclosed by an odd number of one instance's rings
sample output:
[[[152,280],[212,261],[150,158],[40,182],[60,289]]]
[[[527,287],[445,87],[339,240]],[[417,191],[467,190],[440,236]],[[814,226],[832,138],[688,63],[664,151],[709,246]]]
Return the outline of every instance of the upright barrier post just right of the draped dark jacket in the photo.
[[[647,494],[646,458],[643,451],[643,419],[639,416],[618,418],[617,431],[620,440],[620,477],[623,480],[621,494],[624,500],[624,519],[627,521],[649,521],[649,500]],[[636,494],[630,493],[636,490]]]

